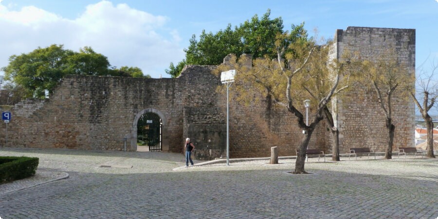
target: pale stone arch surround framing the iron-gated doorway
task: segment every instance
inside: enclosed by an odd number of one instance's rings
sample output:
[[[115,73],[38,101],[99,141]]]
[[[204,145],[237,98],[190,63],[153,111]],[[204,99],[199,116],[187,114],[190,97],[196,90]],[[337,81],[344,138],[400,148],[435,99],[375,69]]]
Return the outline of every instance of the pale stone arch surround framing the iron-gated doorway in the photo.
[[[164,113],[162,113],[160,110],[153,109],[153,108],[148,108],[148,109],[141,110],[140,112],[138,112],[135,115],[134,121],[132,123],[132,128],[131,128],[131,149],[133,151],[137,151],[137,123],[138,123],[138,120],[140,119],[140,117],[143,114],[148,113],[148,112],[152,112],[152,113],[155,113],[158,116],[160,116],[161,121],[163,123],[163,129],[162,129],[162,131],[163,131],[163,133],[162,133],[163,134],[163,139],[162,139],[162,143],[161,143],[162,144],[162,150],[163,151],[168,151],[169,150],[169,142],[168,142],[168,139],[165,137],[165,136],[167,136],[167,131],[168,131],[168,128],[166,126],[167,125],[167,119],[164,116]]]

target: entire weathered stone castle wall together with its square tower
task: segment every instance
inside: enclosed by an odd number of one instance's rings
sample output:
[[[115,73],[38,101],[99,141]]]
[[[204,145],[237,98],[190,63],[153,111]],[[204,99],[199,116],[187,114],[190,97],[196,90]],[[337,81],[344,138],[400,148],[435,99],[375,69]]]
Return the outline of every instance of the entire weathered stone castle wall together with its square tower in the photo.
[[[349,27],[338,30],[333,58],[346,48],[364,57],[396,48],[401,59],[415,68],[415,30]],[[366,39],[366,40],[365,40]],[[368,56],[367,56],[368,55]],[[227,62],[227,58],[224,59]],[[226,64],[226,63],[225,63]],[[7,147],[137,150],[137,122],[153,112],[163,121],[163,151],[182,152],[186,137],[196,146],[196,159],[226,156],[226,94],[216,66],[186,66],[178,78],[128,78],[69,75],[44,100],[26,100],[11,111]],[[386,132],[372,93],[358,91],[335,102],[335,119],[341,130],[341,152],[352,146],[383,151]],[[404,101],[404,100],[403,100]],[[397,102],[395,146],[413,144],[414,106]],[[270,106],[270,107],[268,107]],[[304,110],[304,106],[302,109]],[[311,109],[310,109],[311,115]],[[283,107],[260,98],[249,105],[235,101],[230,92],[230,156],[268,157],[278,146],[280,156],[295,155],[302,140],[295,117]],[[0,147],[6,147],[6,126],[0,126]],[[330,134],[322,121],[310,148],[330,153]]]

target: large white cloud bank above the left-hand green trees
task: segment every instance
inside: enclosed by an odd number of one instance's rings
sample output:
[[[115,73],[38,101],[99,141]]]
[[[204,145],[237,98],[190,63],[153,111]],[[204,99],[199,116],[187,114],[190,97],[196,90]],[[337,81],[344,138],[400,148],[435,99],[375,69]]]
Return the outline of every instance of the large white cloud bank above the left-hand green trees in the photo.
[[[75,19],[35,6],[10,11],[0,4],[0,29],[7,30],[0,35],[0,67],[8,64],[10,55],[64,44],[73,51],[91,46],[113,66],[136,66],[152,77],[168,76],[164,73],[168,64],[183,59],[181,37],[177,30],[165,27],[168,21],[106,0],[88,5]]]

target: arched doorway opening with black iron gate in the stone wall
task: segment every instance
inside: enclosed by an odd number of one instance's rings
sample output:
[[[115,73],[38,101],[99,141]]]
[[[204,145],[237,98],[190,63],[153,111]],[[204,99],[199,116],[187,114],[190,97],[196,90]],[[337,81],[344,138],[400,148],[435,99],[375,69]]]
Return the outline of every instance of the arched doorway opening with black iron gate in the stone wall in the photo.
[[[149,151],[162,150],[163,123],[160,116],[148,112],[142,115],[137,123],[137,136],[142,137],[142,142],[149,146]],[[139,137],[140,140],[140,137]]]

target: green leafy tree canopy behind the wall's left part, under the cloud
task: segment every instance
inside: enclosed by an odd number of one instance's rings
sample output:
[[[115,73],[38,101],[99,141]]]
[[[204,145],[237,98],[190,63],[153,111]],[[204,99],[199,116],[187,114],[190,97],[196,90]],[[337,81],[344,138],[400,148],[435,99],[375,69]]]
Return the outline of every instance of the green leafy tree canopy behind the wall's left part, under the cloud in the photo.
[[[126,77],[144,76],[137,67],[110,68],[105,55],[94,52],[91,47],[80,48],[79,52],[64,49],[53,44],[36,50],[9,57],[9,65],[1,70],[5,79],[19,85],[26,92],[21,97],[44,97],[45,90],[53,92],[56,84],[68,74],[114,75]]]

